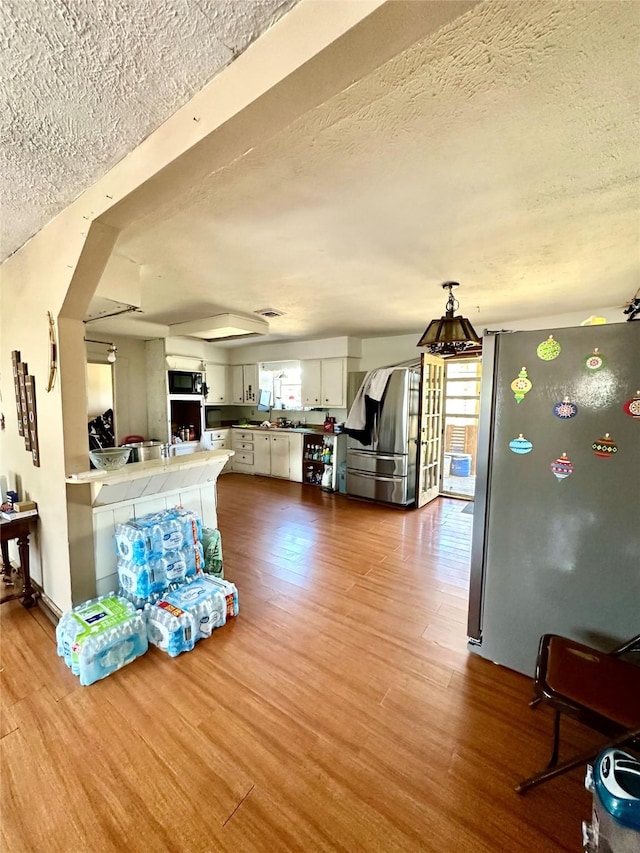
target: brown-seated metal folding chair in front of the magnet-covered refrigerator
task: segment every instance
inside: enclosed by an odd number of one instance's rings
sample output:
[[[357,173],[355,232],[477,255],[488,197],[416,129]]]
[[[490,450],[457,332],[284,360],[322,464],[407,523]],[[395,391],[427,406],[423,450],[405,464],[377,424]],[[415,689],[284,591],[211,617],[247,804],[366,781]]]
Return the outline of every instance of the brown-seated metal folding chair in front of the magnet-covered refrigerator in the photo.
[[[640,634],[611,652],[560,637],[540,639],[531,707],[544,702],[555,711],[553,751],[544,770],[523,780],[519,794],[587,764],[609,747],[640,745],[640,666],[622,655],[640,651]],[[588,753],[558,763],[560,717],[566,714],[609,740]]]

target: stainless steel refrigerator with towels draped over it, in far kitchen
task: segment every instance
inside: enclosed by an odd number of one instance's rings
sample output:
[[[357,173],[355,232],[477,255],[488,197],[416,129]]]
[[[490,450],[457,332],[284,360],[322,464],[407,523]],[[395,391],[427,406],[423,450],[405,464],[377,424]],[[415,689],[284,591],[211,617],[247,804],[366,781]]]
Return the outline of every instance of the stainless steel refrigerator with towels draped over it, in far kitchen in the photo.
[[[349,374],[350,397],[364,373]],[[396,368],[377,407],[367,444],[347,439],[347,494],[408,506],[416,498],[420,370]]]

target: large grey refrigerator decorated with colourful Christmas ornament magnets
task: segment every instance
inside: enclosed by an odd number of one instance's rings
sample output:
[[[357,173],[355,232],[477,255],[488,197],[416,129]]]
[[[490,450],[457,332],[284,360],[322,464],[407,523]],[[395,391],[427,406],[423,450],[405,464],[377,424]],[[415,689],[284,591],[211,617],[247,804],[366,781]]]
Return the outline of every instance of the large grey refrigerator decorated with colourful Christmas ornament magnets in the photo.
[[[533,674],[640,630],[640,322],[485,337],[482,374],[469,648]]]

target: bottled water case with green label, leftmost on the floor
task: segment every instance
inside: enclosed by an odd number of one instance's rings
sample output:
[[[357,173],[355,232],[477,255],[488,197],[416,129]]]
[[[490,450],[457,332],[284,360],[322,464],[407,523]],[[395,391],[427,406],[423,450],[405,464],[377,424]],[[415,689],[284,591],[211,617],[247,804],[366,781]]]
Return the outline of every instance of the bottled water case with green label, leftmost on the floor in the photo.
[[[117,595],[91,599],[65,613],[56,639],[58,654],[85,686],[131,663],[148,648],[144,615]]]

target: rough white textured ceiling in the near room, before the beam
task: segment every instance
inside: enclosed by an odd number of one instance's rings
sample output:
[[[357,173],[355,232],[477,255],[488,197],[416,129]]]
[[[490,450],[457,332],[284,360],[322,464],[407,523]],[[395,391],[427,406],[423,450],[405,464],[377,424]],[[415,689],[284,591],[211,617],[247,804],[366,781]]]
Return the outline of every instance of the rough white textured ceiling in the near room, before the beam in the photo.
[[[0,257],[297,0],[3,0]]]

